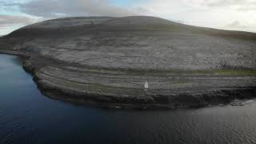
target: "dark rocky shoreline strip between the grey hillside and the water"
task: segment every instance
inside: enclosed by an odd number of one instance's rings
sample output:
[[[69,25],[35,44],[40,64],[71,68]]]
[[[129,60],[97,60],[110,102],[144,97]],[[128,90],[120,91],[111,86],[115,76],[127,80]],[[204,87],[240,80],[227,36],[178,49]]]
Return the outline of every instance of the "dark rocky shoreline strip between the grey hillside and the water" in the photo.
[[[228,104],[235,98],[250,99],[256,97],[256,86],[230,87],[228,89],[223,88],[213,91],[205,91],[198,95],[181,93],[178,96],[158,95],[149,98],[122,98],[107,94],[90,94],[85,91],[72,90],[59,85],[50,85],[49,82],[40,79],[36,74],[38,70],[36,70],[33,65],[27,65],[26,61],[30,58],[29,54],[11,50],[0,50],[0,53],[14,54],[20,57],[23,70],[26,70],[26,72],[31,74],[35,84],[38,86],[38,90],[40,90],[42,94],[49,98],[54,98],[79,105],[126,109],[175,109],[181,107],[189,108],[216,106],[219,104]],[[170,101],[170,97],[176,97],[178,99]],[[206,102],[206,100],[211,98],[212,100]]]

